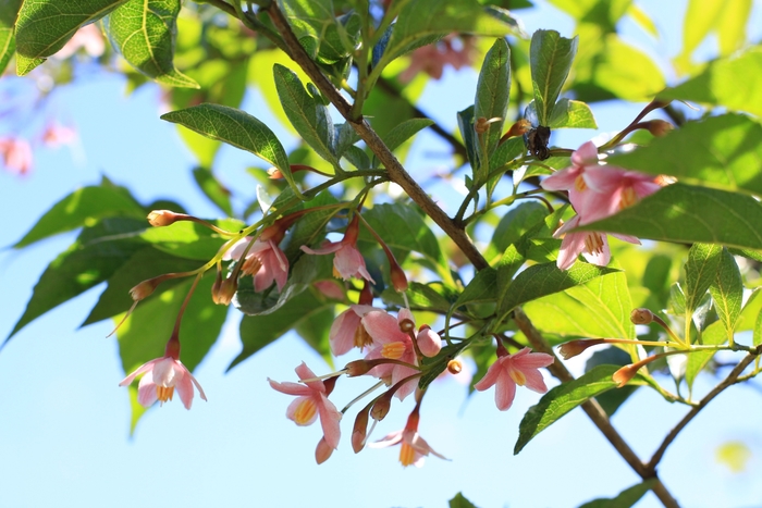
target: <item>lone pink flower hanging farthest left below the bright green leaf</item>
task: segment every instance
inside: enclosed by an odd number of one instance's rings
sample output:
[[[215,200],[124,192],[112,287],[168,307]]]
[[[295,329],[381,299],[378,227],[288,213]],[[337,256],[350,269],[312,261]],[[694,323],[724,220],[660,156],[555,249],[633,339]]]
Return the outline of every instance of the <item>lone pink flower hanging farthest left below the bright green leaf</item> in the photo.
[[[144,407],[149,407],[157,400],[160,400],[161,404],[172,400],[174,388],[177,388],[183,406],[185,406],[185,409],[190,409],[194,385],[198,389],[198,395],[204,400],[207,399],[196,377],[190,374],[180,360],[171,356],[164,356],[144,363],[135,372],[123,379],[119,385],[127,386],[135,376],[140,374],[144,375],[137,387],[137,401]]]

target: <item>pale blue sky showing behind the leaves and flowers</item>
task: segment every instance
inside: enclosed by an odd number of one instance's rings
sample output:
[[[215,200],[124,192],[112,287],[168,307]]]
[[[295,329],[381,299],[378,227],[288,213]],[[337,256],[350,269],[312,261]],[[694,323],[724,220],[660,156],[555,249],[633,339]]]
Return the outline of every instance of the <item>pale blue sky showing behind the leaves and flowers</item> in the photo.
[[[681,18],[684,2],[669,4],[671,11],[664,10],[665,2],[641,4],[668,35],[654,41],[639,28],[627,27],[626,36],[643,39],[653,54],[675,54],[679,26],[669,23]],[[755,16],[759,20],[757,4]],[[550,27],[568,36],[573,28],[558,14],[530,14],[524,20],[528,32]],[[445,125],[454,127],[452,113],[468,106],[475,83],[474,72],[447,73],[443,82],[427,89],[422,109],[437,111]],[[465,91],[453,98],[453,89]],[[0,216],[7,218],[0,246],[17,240],[52,202],[78,186],[97,183],[101,174],[128,186],[144,202],[169,197],[195,214],[217,213],[193,183],[188,170],[194,161],[175,127],[158,119],[156,88],[145,87],[126,97],[119,76],[94,75],[88,83],[57,90],[49,107],[76,123],[84,158],[72,157],[66,149],[42,150],[28,177],[0,172]],[[258,117],[268,115],[256,94],[247,99],[246,109]],[[602,131],[620,126],[631,110],[611,104],[594,108]],[[576,147],[590,135],[569,133],[554,143]],[[427,139],[416,145],[414,171],[430,170],[425,166]],[[226,149],[219,164],[221,177],[254,196],[256,184],[244,171],[251,162]],[[0,336],[8,335],[40,273],[72,238],[62,235],[23,251],[0,252]],[[106,338],[111,323],[78,330],[98,293],[88,292],[33,322],[0,351],[2,507],[120,508],[140,503],[443,507],[464,492],[482,508],[563,508],[614,496],[638,482],[579,410],[514,457],[518,423],[539,396],[520,391],[514,407],[500,412],[492,392],[467,398],[466,388],[454,380],[438,382],[429,391],[420,424],[421,434],[451,461],[432,458],[422,469],[403,469],[396,448],[368,449],[356,456],[345,441],[318,467],[312,454],[319,426],[299,429],[286,420],[290,397],[272,391],[266,380],[293,380],[293,369],[303,360],[316,371],[328,367],[298,338],[287,336],[225,374],[239,350],[234,311],[221,339],[196,371],[209,401],[196,399],[190,411],[177,400],[157,407],[130,438],[127,393],[116,386],[124,373],[115,339]],[[332,398],[337,404],[348,401],[359,392],[358,384],[340,381]],[[704,376],[698,389],[711,385],[712,380]],[[671,447],[660,474],[684,506],[760,506],[760,397],[750,387],[728,389]],[[374,436],[401,429],[411,404],[395,406]],[[616,413],[614,424],[636,451],[649,456],[683,412],[641,389]],[[343,424],[345,438],[351,423],[347,419]],[[738,474],[714,458],[718,446],[734,439],[743,441],[753,453],[746,471]],[[649,494],[638,506],[660,505]]]

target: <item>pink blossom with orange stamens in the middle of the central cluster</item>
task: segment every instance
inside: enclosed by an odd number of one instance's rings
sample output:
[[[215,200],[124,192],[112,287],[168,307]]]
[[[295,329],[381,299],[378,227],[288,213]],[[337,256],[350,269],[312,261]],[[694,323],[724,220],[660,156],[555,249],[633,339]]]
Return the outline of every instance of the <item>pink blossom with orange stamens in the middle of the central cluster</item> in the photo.
[[[416,364],[416,352],[413,346],[413,339],[408,334],[400,330],[400,322],[396,318],[383,310],[372,310],[362,315],[361,322],[365,330],[373,339],[373,345],[365,357],[366,360],[388,358],[410,365]],[[384,380],[389,385],[394,385],[405,377],[417,373],[418,371],[413,367],[398,363],[382,363],[368,372],[368,374],[374,377]],[[400,387],[395,396],[400,400],[403,400],[416,389],[417,385],[418,380],[413,379]]]

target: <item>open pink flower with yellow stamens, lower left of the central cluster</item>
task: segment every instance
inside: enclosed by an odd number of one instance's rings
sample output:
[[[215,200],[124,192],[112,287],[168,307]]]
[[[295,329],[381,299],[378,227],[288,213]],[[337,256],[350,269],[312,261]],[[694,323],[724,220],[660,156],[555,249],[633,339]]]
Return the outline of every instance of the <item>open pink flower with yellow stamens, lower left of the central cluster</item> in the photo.
[[[315,373],[304,362],[295,370],[299,380],[315,379]],[[324,444],[318,444],[316,456],[318,456],[318,460],[323,457],[323,460],[327,460],[325,445],[331,449],[335,449],[339,446],[339,438],[341,437],[339,421],[342,419],[342,413],[328,399],[325,384],[318,380],[304,383],[279,383],[268,377],[268,381],[273,389],[282,394],[296,395],[296,399],[286,409],[286,418],[293,420],[294,423],[300,426],[310,425],[320,416]],[[330,454],[328,455],[330,456]]]

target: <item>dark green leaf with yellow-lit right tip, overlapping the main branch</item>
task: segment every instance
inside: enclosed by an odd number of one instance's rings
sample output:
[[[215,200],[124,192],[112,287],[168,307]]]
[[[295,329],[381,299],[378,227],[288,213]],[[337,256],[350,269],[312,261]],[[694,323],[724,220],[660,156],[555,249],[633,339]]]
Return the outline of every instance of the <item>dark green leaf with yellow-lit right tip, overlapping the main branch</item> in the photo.
[[[529,267],[519,273],[512,283],[497,288],[499,295],[504,295],[497,313],[501,318],[499,321],[503,321],[508,312],[521,303],[563,292],[613,272],[618,272],[618,270],[579,261],[568,270],[558,270],[554,262]]]

